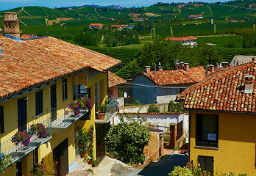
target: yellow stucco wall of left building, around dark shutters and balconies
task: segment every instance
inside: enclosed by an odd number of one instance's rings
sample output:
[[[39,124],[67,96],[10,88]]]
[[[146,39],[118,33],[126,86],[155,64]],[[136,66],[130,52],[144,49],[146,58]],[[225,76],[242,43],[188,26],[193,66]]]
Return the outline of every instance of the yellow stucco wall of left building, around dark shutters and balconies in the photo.
[[[69,126],[65,129],[65,131],[60,133],[53,133],[52,138],[49,142],[40,145],[38,148],[38,161],[42,161],[42,158],[52,158],[52,151],[54,147],[57,147],[58,144],[63,142],[64,139],[68,138],[68,164],[71,164],[75,159],[75,131],[76,128],[89,128],[90,125],[94,126],[95,129],[95,110],[94,110],[94,84],[101,81],[102,83],[102,103],[104,103],[104,98],[107,96],[107,73],[99,73],[93,78],[88,78],[87,74],[74,74],[72,76],[67,77],[68,80],[68,99],[63,100],[63,90],[62,90],[62,81],[54,82],[57,87],[57,109],[64,109],[68,106],[68,103],[73,101],[73,85],[74,84],[85,84],[86,87],[90,87],[90,98],[92,101],[92,109],[91,109],[91,118],[90,120],[79,120],[75,122],[73,125]],[[32,90],[26,95],[22,95],[18,98],[7,100],[3,103],[0,103],[0,106],[4,106],[4,133],[0,134],[0,141],[4,142],[7,139],[10,139],[15,132],[18,131],[18,99],[27,97],[27,128],[32,125],[33,120],[40,120],[43,117],[48,116],[50,108],[51,108],[51,95],[50,95],[50,84],[46,87],[42,87],[43,89],[43,114],[40,117],[35,117],[35,92],[38,92],[40,89]],[[96,132],[94,131],[94,134]],[[96,158],[96,141],[93,142],[93,151],[94,157]],[[29,175],[33,166],[33,155],[29,153],[26,155],[24,159],[22,159],[22,172],[24,175]],[[49,161],[50,164],[50,161]],[[52,165],[51,165],[52,166]],[[49,166],[50,167],[50,166]],[[50,168],[52,169],[52,168]],[[7,167],[6,172],[0,175],[15,175],[15,164]]]

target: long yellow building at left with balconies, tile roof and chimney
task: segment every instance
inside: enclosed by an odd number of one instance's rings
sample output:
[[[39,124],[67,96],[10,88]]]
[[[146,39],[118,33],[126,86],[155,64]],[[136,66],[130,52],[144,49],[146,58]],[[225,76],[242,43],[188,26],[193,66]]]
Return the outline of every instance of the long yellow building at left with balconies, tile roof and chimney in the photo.
[[[21,41],[17,21],[15,13],[7,12],[4,30],[8,34],[0,34],[1,153],[13,162],[0,175],[31,175],[34,164],[42,161],[49,174],[66,175],[76,166],[79,128],[93,125],[96,140],[102,140],[97,124],[107,122],[116,111],[107,106],[105,117],[96,119],[95,107],[102,106],[107,96],[107,71],[121,61],[53,37]],[[76,115],[67,109],[85,95],[91,109]],[[18,131],[32,134],[31,125],[37,123],[47,128],[46,136],[33,134],[28,146],[12,142]],[[104,151],[96,140],[93,155],[101,159]]]

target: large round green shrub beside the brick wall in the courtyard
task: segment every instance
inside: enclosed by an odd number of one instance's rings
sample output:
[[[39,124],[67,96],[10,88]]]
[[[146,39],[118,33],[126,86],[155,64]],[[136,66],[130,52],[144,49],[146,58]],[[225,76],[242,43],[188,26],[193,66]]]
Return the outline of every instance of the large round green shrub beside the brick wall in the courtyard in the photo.
[[[121,116],[121,122],[112,126],[105,137],[107,152],[117,153],[118,159],[126,164],[143,164],[143,150],[150,139],[148,128],[142,125],[145,117],[137,115],[135,118],[125,113],[126,122]]]

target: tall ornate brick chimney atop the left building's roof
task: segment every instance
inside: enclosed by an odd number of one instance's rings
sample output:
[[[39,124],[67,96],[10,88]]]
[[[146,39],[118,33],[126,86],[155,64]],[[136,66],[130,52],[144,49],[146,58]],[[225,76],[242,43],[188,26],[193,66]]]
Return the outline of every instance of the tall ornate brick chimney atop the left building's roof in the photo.
[[[13,40],[20,40],[20,21],[16,12],[4,12],[4,35]]]

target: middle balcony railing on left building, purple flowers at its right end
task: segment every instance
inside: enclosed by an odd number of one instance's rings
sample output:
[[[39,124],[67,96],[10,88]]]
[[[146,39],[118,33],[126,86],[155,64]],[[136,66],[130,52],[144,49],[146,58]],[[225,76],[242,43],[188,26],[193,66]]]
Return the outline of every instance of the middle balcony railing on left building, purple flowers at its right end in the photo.
[[[88,109],[80,109],[80,114],[75,115],[70,109],[51,109],[51,128],[68,128],[75,121],[79,120]]]

